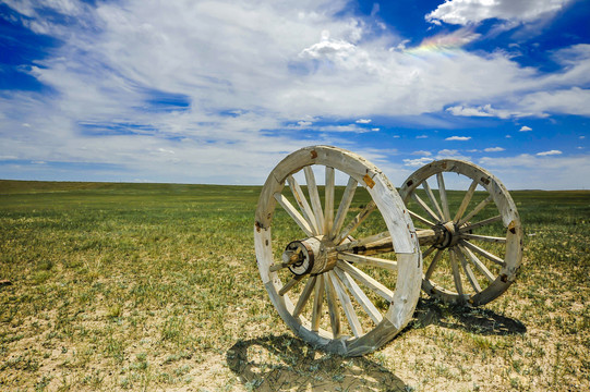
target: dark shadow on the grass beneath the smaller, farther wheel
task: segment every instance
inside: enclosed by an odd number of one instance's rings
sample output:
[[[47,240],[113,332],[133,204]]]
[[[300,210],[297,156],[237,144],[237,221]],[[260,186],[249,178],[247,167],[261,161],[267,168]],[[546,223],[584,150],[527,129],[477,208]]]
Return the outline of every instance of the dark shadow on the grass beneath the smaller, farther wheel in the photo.
[[[410,328],[441,326],[482,335],[511,335],[527,332],[519,320],[484,308],[447,305],[432,298],[418,302]]]

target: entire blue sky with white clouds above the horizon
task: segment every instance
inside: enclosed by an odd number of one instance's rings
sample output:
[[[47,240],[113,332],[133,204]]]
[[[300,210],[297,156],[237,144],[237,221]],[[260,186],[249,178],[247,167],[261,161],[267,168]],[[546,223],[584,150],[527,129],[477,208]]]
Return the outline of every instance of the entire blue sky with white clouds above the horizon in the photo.
[[[590,188],[590,1],[0,1],[0,179],[262,184],[356,151]]]

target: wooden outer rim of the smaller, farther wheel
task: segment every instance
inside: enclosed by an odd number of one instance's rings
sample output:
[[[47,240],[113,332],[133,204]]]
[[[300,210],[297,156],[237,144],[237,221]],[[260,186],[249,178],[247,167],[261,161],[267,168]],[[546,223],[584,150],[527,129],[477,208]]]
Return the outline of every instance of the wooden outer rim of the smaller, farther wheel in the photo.
[[[471,306],[479,306],[490,303],[491,301],[497,298],[499,295],[502,295],[508,286],[515,281],[516,273],[520,267],[520,262],[522,259],[522,226],[520,223],[520,218],[518,216],[516,205],[513,201],[513,198],[510,197],[508,191],[506,187],[502,184],[502,182],[485,171],[484,169],[467,161],[460,161],[460,160],[453,160],[453,159],[445,159],[440,161],[431,162],[420,169],[418,169],[416,172],[413,172],[405,182],[401,188],[399,189],[399,194],[405,203],[408,203],[410,198],[414,193],[414,191],[420,186],[423,185],[423,183],[429,180],[432,176],[437,176],[441,173],[444,172],[455,172],[461,175],[465,175],[466,177],[470,179],[472,181],[472,186],[481,185],[487,191],[489,197],[491,198],[490,203],[494,203],[498,212],[498,221],[501,220],[504,228],[506,229],[506,238],[505,238],[505,256],[502,259],[502,267],[498,273],[493,277],[494,279],[491,280],[490,284],[482,289],[480,292],[475,292],[474,294],[469,293],[462,293],[462,295],[459,295],[457,290],[457,283],[455,283],[454,290],[449,290],[448,287],[444,287],[436,282],[434,282],[431,279],[428,279],[426,273],[423,275],[422,280],[422,290],[424,290],[429,295],[443,299],[445,302],[450,303],[460,303],[460,304],[468,304]],[[437,180],[438,181],[438,180]],[[444,181],[444,180],[443,180]],[[477,184],[477,185],[474,185]],[[444,188],[444,182],[443,182],[443,188]],[[466,195],[470,192],[470,189],[467,189]],[[445,196],[446,197],[446,196]],[[462,203],[461,203],[462,204]],[[460,206],[461,207],[461,206]],[[459,209],[460,209],[459,207]],[[448,207],[447,207],[448,208]],[[467,207],[466,207],[467,209]],[[468,213],[469,209],[463,210],[463,217]],[[437,213],[436,211],[435,213]],[[455,211],[451,211],[451,213]],[[444,212],[443,215],[448,213]],[[453,215],[451,215],[453,217]],[[455,220],[455,217],[453,218]],[[460,221],[461,219],[459,219]],[[468,243],[470,243],[469,238],[467,240]],[[460,244],[459,244],[460,245]],[[471,244],[472,246],[473,244]],[[450,249],[450,248],[448,248]],[[430,249],[429,249],[430,250]],[[458,247],[458,252],[463,253],[463,249]],[[457,252],[448,250],[449,253],[456,253],[456,256],[454,257],[461,257]],[[471,255],[475,255],[475,258],[482,257],[477,254],[477,252],[471,252],[470,249],[466,250],[468,254],[468,257],[466,257],[466,261],[472,261]],[[433,261],[435,257],[436,252],[431,252],[429,254],[430,262]],[[450,256],[449,256],[450,257]],[[428,265],[426,260],[429,257],[424,257],[425,261],[424,264]],[[496,260],[497,264],[499,264],[501,260]],[[457,270],[460,270],[460,266],[457,262]],[[474,262],[472,262],[474,268],[477,269],[478,266],[475,266]],[[430,266],[429,266],[430,269]],[[433,268],[434,269],[434,268]],[[460,270],[463,273],[467,274],[467,270],[463,269]],[[460,273],[459,271],[459,273]],[[454,272],[455,273],[455,272]],[[473,290],[475,290],[473,287]]]

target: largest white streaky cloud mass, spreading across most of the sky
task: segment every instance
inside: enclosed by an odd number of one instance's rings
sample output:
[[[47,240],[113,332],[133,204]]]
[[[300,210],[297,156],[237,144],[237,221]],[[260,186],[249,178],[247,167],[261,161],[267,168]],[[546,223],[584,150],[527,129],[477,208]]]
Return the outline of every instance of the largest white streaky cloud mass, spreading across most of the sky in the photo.
[[[345,0],[255,8],[239,0],[44,3],[75,21],[68,25],[44,19],[36,1],[4,3],[63,46],[29,71],[57,94],[0,97],[0,156],[100,163],[113,168],[108,175],[260,183],[299,147],[347,145],[346,133],[378,131],[362,123],[312,126],[318,119],[418,122],[445,108],[470,117],[583,113],[588,102],[587,90],[575,86],[590,81],[590,46],[556,51],[563,71],[549,75],[504,53],[461,50],[478,38],[472,28],[421,47],[444,51],[389,50],[402,39],[372,35],[369,20],[342,17]],[[186,107],[161,110],[153,103],[158,95],[183,97]],[[302,127],[317,134],[301,138]]]

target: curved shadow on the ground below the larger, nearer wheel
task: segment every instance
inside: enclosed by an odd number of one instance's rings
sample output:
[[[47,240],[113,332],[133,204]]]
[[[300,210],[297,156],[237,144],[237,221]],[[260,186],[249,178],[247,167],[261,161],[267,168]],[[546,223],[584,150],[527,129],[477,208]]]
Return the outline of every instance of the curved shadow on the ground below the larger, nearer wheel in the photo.
[[[404,381],[375,362],[326,354],[289,334],[238,341],[226,359],[248,390],[408,390]]]

